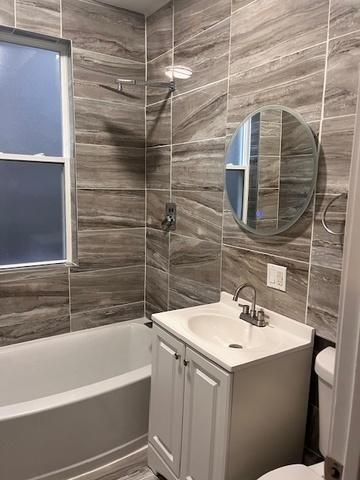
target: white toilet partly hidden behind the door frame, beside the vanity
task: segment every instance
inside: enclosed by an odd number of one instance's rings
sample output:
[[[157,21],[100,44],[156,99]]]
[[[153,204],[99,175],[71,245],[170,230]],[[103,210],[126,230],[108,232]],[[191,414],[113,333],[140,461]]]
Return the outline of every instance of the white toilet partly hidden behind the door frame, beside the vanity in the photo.
[[[319,421],[320,451],[325,457],[328,449],[332,388],[335,372],[335,349],[328,347],[320,352],[315,361],[315,371],[319,385]],[[258,480],[320,480],[324,478],[324,462],[306,467],[305,465],[287,465],[266,473]]]

